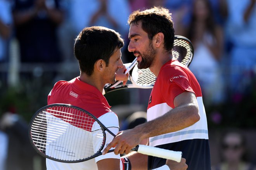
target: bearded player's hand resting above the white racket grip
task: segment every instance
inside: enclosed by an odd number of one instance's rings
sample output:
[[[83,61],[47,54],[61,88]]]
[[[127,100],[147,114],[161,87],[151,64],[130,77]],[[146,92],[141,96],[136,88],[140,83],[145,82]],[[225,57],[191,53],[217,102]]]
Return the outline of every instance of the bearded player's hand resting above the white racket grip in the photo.
[[[131,149],[142,141],[142,136],[135,129],[128,129],[126,131],[120,131],[116,137],[107,145],[102,155],[105,155],[111,148],[116,147],[114,153],[128,154]]]

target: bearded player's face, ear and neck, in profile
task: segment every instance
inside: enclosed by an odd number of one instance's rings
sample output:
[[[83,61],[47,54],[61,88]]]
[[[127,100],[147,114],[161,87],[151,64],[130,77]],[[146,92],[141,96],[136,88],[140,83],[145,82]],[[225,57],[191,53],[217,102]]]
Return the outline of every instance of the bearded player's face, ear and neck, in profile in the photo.
[[[150,40],[142,29],[141,21],[131,24],[129,39],[128,51],[137,57],[138,68],[149,68],[155,76],[158,76],[164,63],[172,59],[171,51],[164,49],[164,34],[159,32]]]

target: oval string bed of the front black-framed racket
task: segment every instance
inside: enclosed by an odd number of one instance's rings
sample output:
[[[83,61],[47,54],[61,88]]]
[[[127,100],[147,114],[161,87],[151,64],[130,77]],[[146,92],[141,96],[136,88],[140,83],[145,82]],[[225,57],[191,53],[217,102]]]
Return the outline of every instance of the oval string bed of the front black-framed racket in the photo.
[[[51,109],[41,111],[31,124],[31,138],[38,150],[57,160],[75,161],[101,149],[103,130],[93,117],[74,108]],[[95,138],[102,139],[98,148],[93,147]]]

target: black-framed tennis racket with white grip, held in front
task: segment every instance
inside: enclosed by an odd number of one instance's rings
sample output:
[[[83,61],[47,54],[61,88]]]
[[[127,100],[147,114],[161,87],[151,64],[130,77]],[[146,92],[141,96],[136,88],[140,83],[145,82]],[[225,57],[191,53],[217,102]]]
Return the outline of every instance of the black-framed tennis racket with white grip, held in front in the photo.
[[[106,132],[115,136],[95,116],[68,104],[51,104],[39,109],[29,123],[33,148],[45,158],[76,163],[102,155]],[[95,141],[98,144],[95,147]],[[109,150],[109,152],[114,150]],[[138,145],[133,151],[180,162],[182,152]]]

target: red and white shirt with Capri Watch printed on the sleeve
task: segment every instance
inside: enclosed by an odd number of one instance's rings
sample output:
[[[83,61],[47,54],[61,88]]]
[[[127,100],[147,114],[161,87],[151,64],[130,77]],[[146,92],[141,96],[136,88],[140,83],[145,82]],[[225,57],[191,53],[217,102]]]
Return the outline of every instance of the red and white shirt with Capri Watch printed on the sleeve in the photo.
[[[200,120],[180,131],[149,138],[150,146],[188,139],[208,139],[207,119],[202,102],[201,88],[191,71],[176,59],[165,63],[157,76],[149,99],[147,120],[156,119],[173,109],[175,107],[173,104],[174,98],[184,91],[195,93],[199,105]]]

